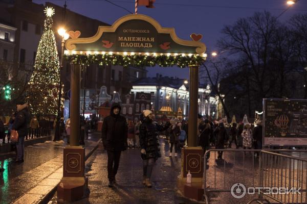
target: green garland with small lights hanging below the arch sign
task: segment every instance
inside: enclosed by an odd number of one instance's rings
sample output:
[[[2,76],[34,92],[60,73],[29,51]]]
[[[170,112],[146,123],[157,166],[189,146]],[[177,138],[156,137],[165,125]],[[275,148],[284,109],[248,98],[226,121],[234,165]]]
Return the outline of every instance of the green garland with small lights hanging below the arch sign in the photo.
[[[178,66],[181,68],[189,65],[202,64],[204,58],[201,56],[147,56],[147,55],[108,55],[108,54],[95,54],[95,55],[65,55],[66,60],[73,64],[81,65],[120,65],[123,67],[153,67],[159,65],[161,67]]]

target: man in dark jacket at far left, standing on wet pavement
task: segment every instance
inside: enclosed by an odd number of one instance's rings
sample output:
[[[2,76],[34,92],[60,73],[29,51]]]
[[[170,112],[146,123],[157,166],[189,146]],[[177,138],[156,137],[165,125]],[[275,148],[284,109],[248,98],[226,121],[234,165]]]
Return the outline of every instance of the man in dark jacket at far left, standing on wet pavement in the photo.
[[[30,114],[28,112],[28,105],[24,101],[17,103],[16,118],[12,126],[12,130],[18,133],[17,148],[17,163],[24,162],[25,155],[25,137],[28,135],[28,125],[30,122]]]

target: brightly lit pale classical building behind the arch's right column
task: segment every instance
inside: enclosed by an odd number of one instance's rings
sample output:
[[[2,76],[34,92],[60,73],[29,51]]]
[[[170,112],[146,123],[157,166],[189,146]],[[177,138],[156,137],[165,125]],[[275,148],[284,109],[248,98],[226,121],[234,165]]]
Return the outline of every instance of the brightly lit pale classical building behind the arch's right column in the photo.
[[[185,79],[162,77],[143,78],[133,83],[130,93],[144,92],[150,94],[151,104],[155,110],[162,107],[170,107],[174,112],[182,111],[183,117],[188,117],[189,91],[188,82]],[[210,86],[199,88],[199,114],[214,117],[217,115],[218,100],[211,95]]]

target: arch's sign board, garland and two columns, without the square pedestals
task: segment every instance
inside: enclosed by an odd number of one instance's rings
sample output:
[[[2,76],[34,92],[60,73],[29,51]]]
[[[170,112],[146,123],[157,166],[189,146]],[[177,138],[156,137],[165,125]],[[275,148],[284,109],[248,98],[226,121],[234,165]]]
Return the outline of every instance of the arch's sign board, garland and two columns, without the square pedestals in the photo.
[[[79,135],[77,113],[80,69],[78,66],[91,64],[123,67],[156,65],[190,67],[189,133],[197,134],[198,72],[199,65],[207,57],[206,45],[200,41],[201,34],[191,34],[191,40],[180,39],[173,28],[162,28],[155,19],[142,14],[126,15],[111,26],[100,26],[97,33],[89,38],[80,38],[80,31],[70,31],[69,34],[71,39],[65,43],[64,54],[72,64],[71,123],[72,131],[76,129],[72,135]],[[74,95],[77,95],[75,99]],[[75,141],[77,145],[78,139]],[[188,144],[196,146],[196,141],[188,141]]]

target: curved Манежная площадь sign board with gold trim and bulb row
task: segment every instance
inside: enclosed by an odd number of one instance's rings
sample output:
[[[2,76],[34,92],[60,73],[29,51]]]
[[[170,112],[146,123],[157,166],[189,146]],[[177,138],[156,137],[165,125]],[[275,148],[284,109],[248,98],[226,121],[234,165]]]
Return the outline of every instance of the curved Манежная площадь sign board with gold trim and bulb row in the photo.
[[[72,38],[65,43],[67,55],[207,56],[206,45],[200,41],[202,35],[193,33],[190,41],[182,40],[173,28],[162,28],[155,19],[142,14],[130,14],[112,26],[100,26],[89,38],[78,38],[76,32],[71,31]]]

